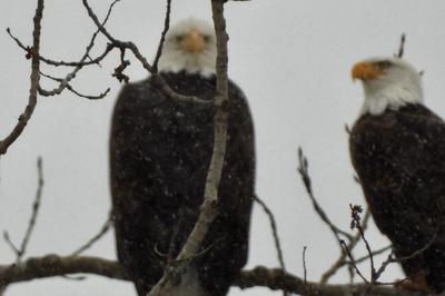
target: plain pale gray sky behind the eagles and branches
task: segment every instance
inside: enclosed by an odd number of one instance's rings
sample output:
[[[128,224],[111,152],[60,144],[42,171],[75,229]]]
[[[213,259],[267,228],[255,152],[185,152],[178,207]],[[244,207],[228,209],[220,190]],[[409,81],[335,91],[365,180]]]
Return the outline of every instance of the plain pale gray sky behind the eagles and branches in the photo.
[[[103,16],[108,2],[90,1]],[[117,38],[132,40],[154,57],[164,22],[164,1],[119,3],[109,21]],[[2,0],[0,10],[0,137],[16,125],[28,100],[29,61],[9,39],[10,27],[30,43],[34,0]],[[196,16],[210,20],[209,1],[174,1],[172,19]],[[339,249],[327,227],[314,213],[296,174],[297,147],[309,158],[315,194],[329,217],[343,228],[349,224],[348,204],[364,204],[353,181],[345,124],[357,117],[363,96],[353,83],[350,66],[369,56],[389,56],[407,33],[405,58],[425,70],[426,105],[445,115],[445,2],[443,0],[300,1],[253,0],[233,2],[226,10],[229,75],[249,98],[256,124],[257,191],[277,216],[287,267],[303,275],[301,251],[308,246],[308,279],[318,280]],[[80,0],[48,0],[43,17],[42,53],[55,59],[79,59],[95,27]],[[96,52],[103,48],[103,38]],[[102,68],[79,73],[78,90],[98,93],[100,101],[67,92],[39,98],[36,112],[20,139],[0,160],[0,230],[20,241],[37,186],[36,159],[43,157],[46,187],[37,229],[28,255],[69,254],[97,233],[110,207],[108,188],[109,121],[119,83],[110,77],[117,53]],[[62,75],[66,69],[43,70]],[[127,71],[131,80],[147,72],[138,62]],[[44,81],[50,88],[51,83]],[[373,248],[387,244],[375,229],[367,233]],[[364,254],[360,246],[358,253]],[[115,258],[111,234],[88,255]],[[378,262],[384,257],[378,257]],[[0,241],[0,263],[13,254]],[[248,267],[277,266],[268,220],[256,208],[251,224]],[[367,264],[362,268],[367,270]],[[384,279],[400,278],[393,266]],[[339,273],[333,283],[345,283]],[[9,296],[22,295],[132,295],[128,283],[90,276],[83,282],[34,280],[11,286]],[[268,289],[230,295],[278,295]]]

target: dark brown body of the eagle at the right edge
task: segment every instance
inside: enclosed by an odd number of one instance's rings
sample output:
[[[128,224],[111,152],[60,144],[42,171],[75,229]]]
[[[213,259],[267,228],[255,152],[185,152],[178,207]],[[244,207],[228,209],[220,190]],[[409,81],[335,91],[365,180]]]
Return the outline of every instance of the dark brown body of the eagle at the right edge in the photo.
[[[350,134],[353,165],[374,220],[409,277],[445,288],[445,124],[422,105],[362,116]]]

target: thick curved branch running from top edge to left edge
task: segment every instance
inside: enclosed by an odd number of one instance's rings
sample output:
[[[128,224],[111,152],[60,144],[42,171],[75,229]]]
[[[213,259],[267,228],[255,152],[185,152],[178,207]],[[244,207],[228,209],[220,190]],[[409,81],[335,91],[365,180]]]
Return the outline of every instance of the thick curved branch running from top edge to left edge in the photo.
[[[41,19],[43,17],[43,0],[37,1],[36,14],[33,18],[33,32],[32,32],[32,49],[31,52],[31,87],[29,90],[28,105],[24,108],[24,111],[19,117],[19,122],[17,122],[16,127],[12,131],[3,139],[0,140],[0,155],[4,155],[8,148],[19,138],[24,127],[27,126],[29,119],[34,111],[37,105],[37,93],[39,88],[40,80],[40,60],[38,55],[40,52],[40,31],[41,31]]]

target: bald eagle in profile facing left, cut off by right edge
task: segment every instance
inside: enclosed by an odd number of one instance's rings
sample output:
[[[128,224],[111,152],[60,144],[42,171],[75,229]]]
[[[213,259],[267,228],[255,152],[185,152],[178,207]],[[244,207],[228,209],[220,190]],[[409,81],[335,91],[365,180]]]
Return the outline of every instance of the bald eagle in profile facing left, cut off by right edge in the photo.
[[[365,102],[350,156],[379,230],[414,287],[445,289],[445,122],[423,105],[419,72],[400,58],[358,62]]]

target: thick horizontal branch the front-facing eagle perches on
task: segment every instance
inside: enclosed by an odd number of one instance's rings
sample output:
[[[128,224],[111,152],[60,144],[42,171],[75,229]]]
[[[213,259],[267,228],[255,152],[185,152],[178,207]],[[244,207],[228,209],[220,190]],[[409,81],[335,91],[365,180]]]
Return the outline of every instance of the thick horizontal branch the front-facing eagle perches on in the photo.
[[[48,255],[28,258],[17,265],[0,265],[0,287],[10,284],[29,282],[31,279],[48,278],[72,274],[93,274],[108,278],[129,280],[123,268],[117,263],[98,257]],[[307,282],[283,269],[255,267],[243,270],[233,283],[240,288],[268,287],[273,290],[288,290],[304,296],[344,296],[360,295],[368,288],[364,284],[355,285],[322,285]],[[373,286],[367,296],[421,296],[419,293],[399,290],[393,287]]]

